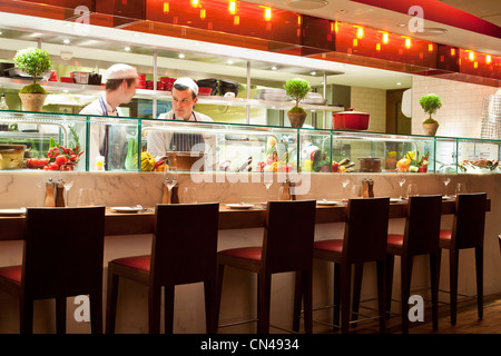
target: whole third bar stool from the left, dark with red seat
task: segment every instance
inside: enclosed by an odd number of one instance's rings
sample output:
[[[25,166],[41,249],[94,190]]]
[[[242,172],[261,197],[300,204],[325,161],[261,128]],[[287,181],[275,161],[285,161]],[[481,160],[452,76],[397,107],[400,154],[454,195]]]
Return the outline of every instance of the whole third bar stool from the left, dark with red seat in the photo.
[[[218,312],[225,266],[257,274],[257,333],[269,333],[272,275],[295,271],[295,298],[304,299],[305,332],[312,333],[312,269],[315,200],[268,201],[263,245],[222,250],[218,264]],[[297,313],[297,310],[294,310]]]

